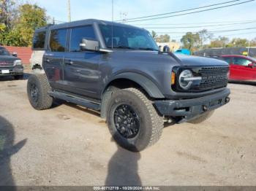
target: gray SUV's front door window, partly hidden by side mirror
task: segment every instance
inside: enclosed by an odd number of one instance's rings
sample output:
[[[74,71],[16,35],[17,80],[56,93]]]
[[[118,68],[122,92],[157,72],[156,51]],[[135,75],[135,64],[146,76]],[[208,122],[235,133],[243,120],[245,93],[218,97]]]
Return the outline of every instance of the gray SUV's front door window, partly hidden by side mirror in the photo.
[[[81,26],[71,29],[70,52],[80,52],[82,39],[96,39],[93,26]]]

